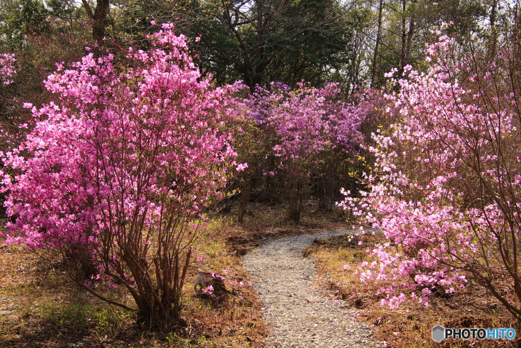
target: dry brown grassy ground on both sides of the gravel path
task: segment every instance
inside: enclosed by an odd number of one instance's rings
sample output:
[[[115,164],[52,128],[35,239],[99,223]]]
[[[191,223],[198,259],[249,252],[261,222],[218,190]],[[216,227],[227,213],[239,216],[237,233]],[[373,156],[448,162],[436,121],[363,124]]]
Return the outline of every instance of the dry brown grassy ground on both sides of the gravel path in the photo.
[[[184,289],[183,317],[188,327],[169,333],[142,332],[134,325],[132,313],[102,303],[80,291],[60,270],[58,263],[43,261],[38,255],[17,246],[0,248],[0,347],[263,347],[267,332],[249,278],[240,257],[269,239],[335,229],[350,229],[338,213],[326,214],[308,202],[299,224],[284,221],[284,206],[252,204],[244,223],[235,215],[218,215],[208,233],[196,246],[192,272]],[[357,239],[336,237],[316,241],[305,254],[314,257],[321,276],[320,285],[358,309],[356,320],[373,325],[377,339],[396,348],[409,347],[514,347],[507,341],[431,340],[431,328],[509,327],[510,316],[481,287],[470,284],[448,298],[433,298],[431,307],[408,304],[391,312],[374,295],[381,284],[363,284],[351,270],[366,260],[365,249],[379,242],[379,236]],[[203,256],[205,262],[195,262]],[[219,296],[194,295],[196,271],[226,275],[229,293]],[[237,284],[235,284],[237,282]],[[240,286],[240,282],[244,285]],[[132,304],[122,291],[107,291],[118,301]]]

